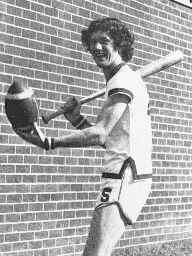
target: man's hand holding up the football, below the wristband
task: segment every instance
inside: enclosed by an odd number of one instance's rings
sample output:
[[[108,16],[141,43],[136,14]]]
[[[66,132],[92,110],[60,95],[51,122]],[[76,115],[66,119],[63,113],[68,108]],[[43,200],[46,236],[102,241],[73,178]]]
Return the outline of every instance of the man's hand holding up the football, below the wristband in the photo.
[[[34,122],[33,125],[24,128],[15,128],[13,126],[12,128],[22,139],[40,148],[45,148],[45,136],[36,122]]]

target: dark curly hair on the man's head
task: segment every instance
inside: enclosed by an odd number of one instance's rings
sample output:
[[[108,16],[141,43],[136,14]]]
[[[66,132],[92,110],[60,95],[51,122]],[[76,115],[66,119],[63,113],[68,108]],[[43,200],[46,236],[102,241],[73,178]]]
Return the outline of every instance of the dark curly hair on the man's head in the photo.
[[[114,50],[118,50],[122,60],[131,60],[134,48],[134,34],[120,20],[116,18],[102,18],[93,20],[88,29],[82,30],[82,44],[90,52],[90,38],[94,32],[101,30],[107,32],[113,39]]]

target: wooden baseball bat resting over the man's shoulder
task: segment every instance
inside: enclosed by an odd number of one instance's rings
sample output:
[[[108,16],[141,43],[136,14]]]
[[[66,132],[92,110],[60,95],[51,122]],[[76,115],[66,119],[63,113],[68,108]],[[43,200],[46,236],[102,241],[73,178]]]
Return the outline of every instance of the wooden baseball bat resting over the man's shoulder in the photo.
[[[175,52],[172,52],[162,58],[159,58],[158,60],[155,60],[151,62],[150,64],[136,70],[136,73],[138,73],[141,78],[145,78],[147,76],[150,76],[154,73],[157,73],[161,70],[164,70],[165,68],[168,68],[174,64],[177,64],[178,62],[182,61],[184,58],[181,51],[177,50]],[[87,102],[90,102],[91,100],[94,100],[95,98],[101,97],[105,94],[105,88],[102,90],[99,90],[98,92],[95,92],[91,94],[90,96],[87,96],[81,100],[79,100],[80,104],[83,105]],[[52,114],[48,114],[47,116],[42,116],[42,120],[45,124],[48,124],[48,122],[56,118],[57,116],[60,116],[61,114],[64,114],[65,111],[63,109],[57,110],[56,112]]]

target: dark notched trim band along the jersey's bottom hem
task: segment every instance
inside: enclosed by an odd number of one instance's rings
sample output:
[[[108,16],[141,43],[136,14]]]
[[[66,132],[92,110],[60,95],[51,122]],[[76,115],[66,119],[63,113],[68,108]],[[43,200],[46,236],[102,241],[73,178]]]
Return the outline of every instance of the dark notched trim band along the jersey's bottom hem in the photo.
[[[152,173],[149,173],[149,174],[137,174],[137,168],[136,168],[135,161],[131,157],[129,157],[128,159],[126,159],[124,161],[119,174],[103,172],[102,173],[102,178],[122,180],[124,172],[125,172],[128,164],[130,164],[130,166],[131,166],[134,180],[143,180],[143,179],[150,179],[150,178],[152,178]]]

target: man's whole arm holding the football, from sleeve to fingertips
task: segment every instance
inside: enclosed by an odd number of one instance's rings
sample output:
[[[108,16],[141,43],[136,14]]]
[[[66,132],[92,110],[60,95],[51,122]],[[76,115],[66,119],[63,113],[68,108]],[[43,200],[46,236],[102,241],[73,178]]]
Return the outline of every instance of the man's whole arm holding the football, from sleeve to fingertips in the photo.
[[[118,95],[110,97],[102,107],[94,126],[86,122],[82,130],[68,136],[58,138],[44,137],[35,122],[31,126],[31,131],[14,127],[13,129],[16,134],[24,140],[41,148],[45,148],[46,150],[56,147],[79,148],[102,146],[104,148],[104,142],[108,134],[110,134],[111,130],[122,116],[127,104],[127,97],[123,94],[121,94],[120,97]]]

